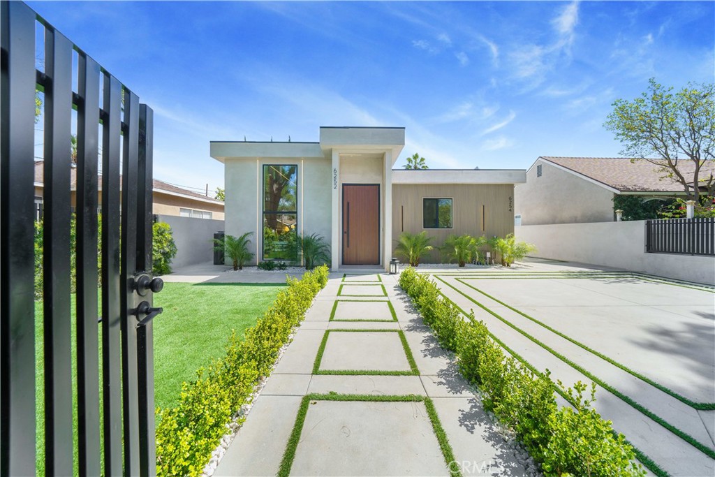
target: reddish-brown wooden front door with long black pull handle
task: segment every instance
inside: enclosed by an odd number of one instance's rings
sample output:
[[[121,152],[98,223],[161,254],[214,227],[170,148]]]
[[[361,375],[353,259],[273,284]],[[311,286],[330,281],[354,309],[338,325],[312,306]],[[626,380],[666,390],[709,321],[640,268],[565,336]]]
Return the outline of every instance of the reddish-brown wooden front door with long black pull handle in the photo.
[[[380,186],[342,186],[342,263],[380,265]]]

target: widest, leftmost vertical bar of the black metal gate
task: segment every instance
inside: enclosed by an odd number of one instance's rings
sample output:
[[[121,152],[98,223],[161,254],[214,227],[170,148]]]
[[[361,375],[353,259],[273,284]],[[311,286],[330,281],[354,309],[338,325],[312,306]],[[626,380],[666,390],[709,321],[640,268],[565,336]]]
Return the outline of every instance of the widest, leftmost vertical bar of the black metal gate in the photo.
[[[35,14],[0,4],[0,473],[35,474]]]

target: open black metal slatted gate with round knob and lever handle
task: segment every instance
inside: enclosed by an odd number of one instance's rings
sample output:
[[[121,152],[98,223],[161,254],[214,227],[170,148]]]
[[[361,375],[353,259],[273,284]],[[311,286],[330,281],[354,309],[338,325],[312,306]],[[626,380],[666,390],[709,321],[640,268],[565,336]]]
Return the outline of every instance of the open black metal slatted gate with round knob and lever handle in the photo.
[[[47,475],[72,475],[75,465],[81,476],[152,475],[151,319],[161,313],[152,308],[152,292],[162,287],[151,276],[152,109],[25,4],[1,1],[0,9],[0,475],[36,473],[38,417],[44,417],[39,448],[44,448]],[[35,65],[36,29],[44,31],[42,69]],[[36,89],[44,92],[44,331],[37,337]],[[70,246],[73,136],[75,250]],[[73,252],[76,295],[70,290]],[[71,300],[76,301],[74,316]],[[44,416],[36,415],[35,401],[39,343]]]

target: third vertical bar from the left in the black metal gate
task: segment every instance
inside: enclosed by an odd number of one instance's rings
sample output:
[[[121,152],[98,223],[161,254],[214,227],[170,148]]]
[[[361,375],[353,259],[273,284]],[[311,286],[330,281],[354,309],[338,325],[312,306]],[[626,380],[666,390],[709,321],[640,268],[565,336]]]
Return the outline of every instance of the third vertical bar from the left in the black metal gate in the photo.
[[[79,54],[77,108],[77,435],[79,475],[99,476],[97,159],[99,64]]]

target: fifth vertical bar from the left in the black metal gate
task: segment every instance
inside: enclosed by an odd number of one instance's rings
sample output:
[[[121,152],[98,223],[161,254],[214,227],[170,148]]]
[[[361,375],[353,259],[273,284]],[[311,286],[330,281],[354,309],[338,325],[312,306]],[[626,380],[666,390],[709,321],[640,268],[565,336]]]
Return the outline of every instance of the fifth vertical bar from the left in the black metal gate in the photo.
[[[122,158],[122,402],[124,404],[124,473],[139,473],[139,395],[137,317],[132,315],[132,275],[137,272],[137,163],[139,98],[124,89],[124,157]]]

